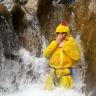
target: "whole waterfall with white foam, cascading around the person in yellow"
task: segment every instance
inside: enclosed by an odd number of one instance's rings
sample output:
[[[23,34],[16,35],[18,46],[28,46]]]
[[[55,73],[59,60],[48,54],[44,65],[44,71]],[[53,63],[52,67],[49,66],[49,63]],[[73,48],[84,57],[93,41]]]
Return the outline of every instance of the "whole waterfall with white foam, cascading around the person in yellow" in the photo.
[[[42,53],[49,41],[41,32],[41,26],[36,14],[34,12],[31,15],[26,14],[26,18],[31,18],[32,22],[27,26],[23,34],[24,37],[28,38],[28,48],[30,47],[31,52],[19,45],[17,35],[12,26],[12,19],[10,18],[8,23],[3,17],[0,18],[2,21],[0,22],[0,96],[85,96],[86,67],[80,45],[81,34],[74,33],[76,31],[74,16],[75,14],[72,12],[69,25],[72,27],[72,35],[75,36],[81,50],[81,60],[73,72],[74,88],[64,89],[57,87],[53,91],[43,90],[45,77],[48,74],[48,60],[42,56]],[[58,21],[62,21],[62,17],[59,19]],[[42,31],[44,30],[42,29]],[[3,32],[5,33],[3,34]],[[39,53],[40,55],[37,56],[39,49],[41,54]]]

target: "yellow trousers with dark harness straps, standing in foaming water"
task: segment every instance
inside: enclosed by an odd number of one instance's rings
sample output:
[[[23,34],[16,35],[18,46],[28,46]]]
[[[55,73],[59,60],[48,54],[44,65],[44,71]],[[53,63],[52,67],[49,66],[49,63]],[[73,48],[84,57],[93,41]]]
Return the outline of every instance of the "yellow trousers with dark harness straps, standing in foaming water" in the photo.
[[[50,70],[50,74],[48,74],[46,77],[44,89],[53,90],[57,82],[58,87],[64,87],[64,88],[72,87],[72,77],[70,75],[70,70],[68,68],[57,70],[52,68]]]

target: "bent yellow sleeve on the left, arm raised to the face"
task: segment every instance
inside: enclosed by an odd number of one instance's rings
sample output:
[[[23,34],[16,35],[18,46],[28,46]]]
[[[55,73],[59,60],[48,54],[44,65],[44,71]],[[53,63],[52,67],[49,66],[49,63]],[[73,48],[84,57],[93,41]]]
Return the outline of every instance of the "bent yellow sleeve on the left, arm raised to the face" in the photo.
[[[57,48],[58,43],[56,41],[52,41],[51,44],[44,50],[44,57],[50,58],[54,50]]]

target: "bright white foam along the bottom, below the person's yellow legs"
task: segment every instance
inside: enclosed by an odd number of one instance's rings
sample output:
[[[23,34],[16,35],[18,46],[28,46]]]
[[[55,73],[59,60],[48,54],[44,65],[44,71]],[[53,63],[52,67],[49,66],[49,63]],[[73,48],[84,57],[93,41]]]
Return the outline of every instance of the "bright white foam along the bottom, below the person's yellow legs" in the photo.
[[[0,96],[85,96],[74,89],[55,88],[53,91],[43,90],[42,84],[32,84],[23,91]]]

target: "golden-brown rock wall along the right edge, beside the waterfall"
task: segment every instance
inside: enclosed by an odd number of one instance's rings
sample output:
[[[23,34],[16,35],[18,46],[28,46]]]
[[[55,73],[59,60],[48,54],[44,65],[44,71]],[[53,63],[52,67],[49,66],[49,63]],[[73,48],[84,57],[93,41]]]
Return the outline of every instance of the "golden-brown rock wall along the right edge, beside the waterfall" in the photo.
[[[90,22],[90,23],[89,23]],[[96,15],[91,14],[90,18],[87,21],[85,28],[82,33],[82,44],[84,49],[84,55],[88,69],[86,72],[86,85],[87,91],[93,91],[92,96],[96,95]]]

